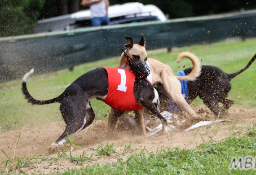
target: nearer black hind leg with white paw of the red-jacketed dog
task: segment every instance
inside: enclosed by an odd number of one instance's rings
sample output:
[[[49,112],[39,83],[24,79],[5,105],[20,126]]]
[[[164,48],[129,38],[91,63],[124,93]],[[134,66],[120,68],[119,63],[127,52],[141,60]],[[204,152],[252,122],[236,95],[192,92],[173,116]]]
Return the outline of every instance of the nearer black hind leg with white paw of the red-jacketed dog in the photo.
[[[63,134],[53,142],[52,146],[61,145],[66,142],[67,134],[74,136],[77,132],[84,129],[86,123],[86,102],[87,96],[69,96],[64,97],[60,106],[60,110],[66,129]]]

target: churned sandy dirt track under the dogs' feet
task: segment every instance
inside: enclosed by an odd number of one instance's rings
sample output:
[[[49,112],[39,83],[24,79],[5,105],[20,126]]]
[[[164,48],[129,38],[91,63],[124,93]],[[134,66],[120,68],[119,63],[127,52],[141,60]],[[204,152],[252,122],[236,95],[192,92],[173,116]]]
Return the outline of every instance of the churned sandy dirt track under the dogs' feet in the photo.
[[[255,123],[256,109],[247,109],[243,106],[232,106],[228,115],[223,119],[230,119],[231,122],[221,122],[212,124],[197,129],[184,132],[185,128],[199,122],[206,120],[214,120],[214,116],[204,105],[193,107],[198,112],[202,119],[194,119],[184,114],[178,115],[182,121],[186,119],[186,122],[179,126],[171,135],[156,134],[150,137],[134,136],[126,131],[118,131],[114,137],[107,137],[107,122],[106,121],[94,121],[92,125],[80,131],[74,136],[74,139],[82,138],[76,143],[83,144],[82,146],[75,147],[76,151],[72,154],[81,155],[83,151],[86,151],[86,155],[90,156],[93,152],[92,149],[96,148],[100,140],[102,143],[109,142],[109,144],[115,144],[115,151],[120,154],[124,154],[125,145],[131,144],[131,153],[135,153],[139,148],[145,148],[146,152],[156,151],[157,148],[169,148],[169,147],[181,147],[187,149],[193,149],[197,144],[203,143],[203,140],[219,141],[225,137],[236,134],[237,131],[243,130],[245,132],[250,122]],[[0,150],[3,150],[7,154],[11,154],[15,157],[35,157],[35,155],[47,155],[47,157],[57,157],[57,148],[50,146],[64,131],[65,123],[55,122],[49,125],[41,126],[23,126],[21,130],[15,131],[0,131]],[[19,134],[21,137],[18,146],[15,145],[18,142]],[[15,152],[14,152],[15,150]],[[50,173],[54,171],[65,171],[67,168],[71,169],[75,166],[89,166],[96,163],[115,163],[118,158],[125,159],[131,153],[125,153],[124,155],[112,154],[110,156],[99,157],[96,153],[93,154],[94,161],[85,162],[76,165],[71,163],[67,159],[59,159],[58,162],[52,165],[49,162],[43,162],[37,166],[31,165],[29,167],[22,168],[16,172],[27,172],[29,174],[44,171],[44,173]],[[6,156],[1,151],[0,157],[6,159]],[[4,171],[3,169],[1,169]]]

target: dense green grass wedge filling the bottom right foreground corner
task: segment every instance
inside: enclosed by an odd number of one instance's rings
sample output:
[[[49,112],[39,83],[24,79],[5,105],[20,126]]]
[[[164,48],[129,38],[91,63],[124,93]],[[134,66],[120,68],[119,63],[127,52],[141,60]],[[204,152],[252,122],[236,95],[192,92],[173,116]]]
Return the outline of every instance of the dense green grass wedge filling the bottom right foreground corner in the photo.
[[[243,137],[229,137],[220,142],[203,140],[194,150],[179,147],[133,154],[127,160],[119,158],[111,164],[97,164],[80,169],[67,170],[64,175],[80,174],[255,174],[255,170],[230,170],[233,157],[256,157],[256,125],[248,127]],[[244,163],[244,162],[243,162]]]

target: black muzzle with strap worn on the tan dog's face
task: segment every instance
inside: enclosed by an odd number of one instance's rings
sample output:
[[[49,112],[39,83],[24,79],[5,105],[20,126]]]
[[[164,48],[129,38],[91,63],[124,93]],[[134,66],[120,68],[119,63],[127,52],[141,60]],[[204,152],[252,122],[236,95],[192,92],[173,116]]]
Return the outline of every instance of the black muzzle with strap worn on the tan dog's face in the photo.
[[[146,79],[147,76],[149,76],[150,66],[148,66],[146,61],[140,61],[139,63],[136,63],[125,52],[124,52],[124,56],[127,58],[129,67],[137,79]]]

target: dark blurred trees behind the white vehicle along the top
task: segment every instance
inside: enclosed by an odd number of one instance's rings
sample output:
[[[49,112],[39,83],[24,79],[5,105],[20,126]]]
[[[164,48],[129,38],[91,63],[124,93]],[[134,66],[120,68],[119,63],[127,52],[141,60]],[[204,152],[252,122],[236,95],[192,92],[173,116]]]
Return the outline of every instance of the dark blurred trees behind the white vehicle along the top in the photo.
[[[110,5],[125,2],[155,4],[169,18],[256,8],[255,0],[110,0]],[[31,34],[38,19],[85,9],[80,3],[81,0],[0,0],[0,37]]]

